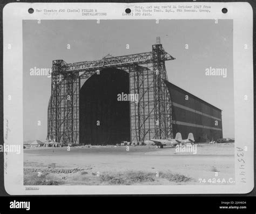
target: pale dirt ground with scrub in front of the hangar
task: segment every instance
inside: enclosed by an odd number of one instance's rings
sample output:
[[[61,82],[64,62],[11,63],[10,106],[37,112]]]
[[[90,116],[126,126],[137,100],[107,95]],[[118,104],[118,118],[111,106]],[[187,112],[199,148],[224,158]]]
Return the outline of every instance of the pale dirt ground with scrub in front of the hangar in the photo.
[[[197,154],[154,146],[130,146],[129,151],[125,146],[24,149],[24,185],[219,185],[231,181],[235,181],[234,143],[199,144]]]

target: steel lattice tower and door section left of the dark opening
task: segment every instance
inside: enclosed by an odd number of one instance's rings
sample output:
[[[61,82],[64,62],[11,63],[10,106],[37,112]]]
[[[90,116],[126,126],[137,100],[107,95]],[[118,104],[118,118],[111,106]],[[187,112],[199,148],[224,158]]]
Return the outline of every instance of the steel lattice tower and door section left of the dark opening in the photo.
[[[79,74],[66,73],[65,61],[53,60],[48,136],[51,141],[78,144]]]

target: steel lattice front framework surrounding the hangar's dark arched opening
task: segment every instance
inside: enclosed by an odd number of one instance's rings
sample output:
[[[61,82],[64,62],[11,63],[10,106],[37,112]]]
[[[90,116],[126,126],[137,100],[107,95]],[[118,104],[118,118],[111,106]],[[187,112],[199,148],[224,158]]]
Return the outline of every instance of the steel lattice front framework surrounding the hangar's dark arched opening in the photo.
[[[165,61],[173,60],[157,38],[152,52],[101,60],[67,64],[53,60],[51,98],[48,106],[48,140],[63,144],[79,144],[80,81],[104,68],[118,68],[129,73],[130,94],[138,94],[138,101],[130,101],[130,140],[173,138],[177,122],[172,108]]]

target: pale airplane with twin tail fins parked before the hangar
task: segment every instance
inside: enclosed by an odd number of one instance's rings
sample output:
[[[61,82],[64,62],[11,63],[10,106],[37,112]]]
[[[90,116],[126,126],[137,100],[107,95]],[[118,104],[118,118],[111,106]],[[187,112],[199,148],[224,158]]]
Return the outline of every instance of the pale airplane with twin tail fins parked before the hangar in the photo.
[[[164,148],[164,146],[176,146],[177,144],[187,144],[187,143],[194,143],[194,135],[192,133],[188,134],[187,139],[183,140],[181,137],[181,134],[178,132],[175,136],[175,139],[168,139],[168,140],[164,140],[164,139],[150,139],[150,140],[146,140],[144,142],[147,146],[154,146],[156,145],[157,148]]]

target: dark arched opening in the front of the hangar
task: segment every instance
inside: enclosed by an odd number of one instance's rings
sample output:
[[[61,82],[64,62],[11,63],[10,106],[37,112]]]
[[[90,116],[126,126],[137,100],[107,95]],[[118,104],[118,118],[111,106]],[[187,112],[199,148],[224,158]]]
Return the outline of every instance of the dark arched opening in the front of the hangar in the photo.
[[[105,68],[87,79],[79,92],[79,144],[116,144],[130,141],[129,73]]]

